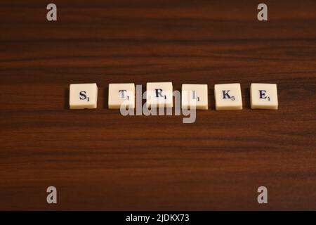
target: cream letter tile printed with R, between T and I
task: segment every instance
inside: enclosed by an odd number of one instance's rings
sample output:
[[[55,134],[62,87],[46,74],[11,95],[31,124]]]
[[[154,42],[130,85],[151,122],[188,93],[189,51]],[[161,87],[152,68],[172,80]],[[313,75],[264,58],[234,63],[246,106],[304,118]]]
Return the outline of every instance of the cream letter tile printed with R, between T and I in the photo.
[[[172,108],[173,89],[171,82],[147,83],[147,108]]]

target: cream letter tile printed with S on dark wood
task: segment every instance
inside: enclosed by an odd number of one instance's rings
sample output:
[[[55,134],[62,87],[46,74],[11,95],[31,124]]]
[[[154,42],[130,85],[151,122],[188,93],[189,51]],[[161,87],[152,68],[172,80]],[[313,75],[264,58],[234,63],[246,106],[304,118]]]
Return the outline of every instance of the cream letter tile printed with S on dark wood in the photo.
[[[97,108],[98,86],[96,84],[70,84],[70,109]]]

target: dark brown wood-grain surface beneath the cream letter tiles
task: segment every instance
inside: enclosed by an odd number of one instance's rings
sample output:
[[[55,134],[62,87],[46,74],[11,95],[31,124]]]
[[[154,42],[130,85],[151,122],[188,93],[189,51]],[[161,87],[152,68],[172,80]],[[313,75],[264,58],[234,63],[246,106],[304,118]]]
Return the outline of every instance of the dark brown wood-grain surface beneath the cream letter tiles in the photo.
[[[316,1],[265,1],[268,22],[259,1],[53,2],[57,22],[50,1],[0,1],[1,210],[316,210]],[[69,110],[91,82],[98,109]],[[209,84],[210,109],[123,117],[116,82]],[[214,110],[230,82],[244,110]],[[251,82],[279,110],[251,110]]]

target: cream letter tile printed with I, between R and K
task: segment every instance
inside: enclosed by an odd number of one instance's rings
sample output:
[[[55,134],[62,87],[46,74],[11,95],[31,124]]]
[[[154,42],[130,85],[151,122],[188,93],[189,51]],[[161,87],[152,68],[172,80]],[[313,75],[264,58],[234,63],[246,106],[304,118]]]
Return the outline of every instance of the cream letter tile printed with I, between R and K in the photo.
[[[181,104],[183,109],[207,110],[207,84],[182,84]]]

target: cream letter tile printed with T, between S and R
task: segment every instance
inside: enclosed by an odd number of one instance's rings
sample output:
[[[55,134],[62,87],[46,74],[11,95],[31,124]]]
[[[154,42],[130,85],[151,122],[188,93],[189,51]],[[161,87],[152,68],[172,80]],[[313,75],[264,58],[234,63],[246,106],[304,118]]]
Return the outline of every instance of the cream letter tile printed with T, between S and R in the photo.
[[[135,84],[109,84],[109,108],[135,108]]]

